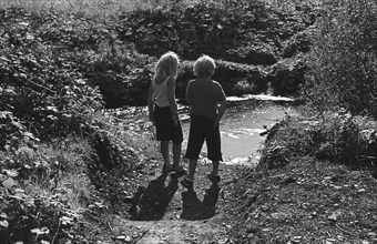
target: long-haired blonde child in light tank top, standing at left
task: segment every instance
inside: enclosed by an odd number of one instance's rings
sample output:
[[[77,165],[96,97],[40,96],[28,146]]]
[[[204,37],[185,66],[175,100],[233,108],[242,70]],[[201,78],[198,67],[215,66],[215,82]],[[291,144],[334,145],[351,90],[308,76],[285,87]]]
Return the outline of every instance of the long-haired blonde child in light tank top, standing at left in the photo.
[[[149,90],[150,121],[156,128],[156,139],[164,160],[163,173],[174,172],[182,176],[185,170],[180,165],[183,133],[175,102],[175,79],[179,57],[170,51],[163,54],[155,65],[154,77]],[[170,161],[170,141],[173,142],[173,165]]]

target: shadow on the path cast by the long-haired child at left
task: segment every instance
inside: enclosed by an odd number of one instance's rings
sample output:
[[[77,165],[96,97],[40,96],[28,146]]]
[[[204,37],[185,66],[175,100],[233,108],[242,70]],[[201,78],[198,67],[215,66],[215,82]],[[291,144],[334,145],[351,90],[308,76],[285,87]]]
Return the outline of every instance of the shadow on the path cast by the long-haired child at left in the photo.
[[[165,185],[166,176],[167,174],[160,175],[146,187],[139,186],[130,209],[132,220],[155,221],[164,216],[169,203],[179,189],[177,177],[171,177],[169,184]]]

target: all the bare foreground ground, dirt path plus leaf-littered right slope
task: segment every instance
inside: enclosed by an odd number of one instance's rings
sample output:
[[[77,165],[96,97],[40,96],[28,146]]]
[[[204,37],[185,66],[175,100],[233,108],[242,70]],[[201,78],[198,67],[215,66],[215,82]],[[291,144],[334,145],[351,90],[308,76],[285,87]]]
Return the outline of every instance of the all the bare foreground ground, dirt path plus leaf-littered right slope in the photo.
[[[193,191],[145,165],[124,212],[106,215],[96,243],[377,243],[377,181],[370,171],[313,159],[281,169],[198,163]],[[104,223],[102,221],[102,223]],[[99,241],[102,240],[102,241]]]

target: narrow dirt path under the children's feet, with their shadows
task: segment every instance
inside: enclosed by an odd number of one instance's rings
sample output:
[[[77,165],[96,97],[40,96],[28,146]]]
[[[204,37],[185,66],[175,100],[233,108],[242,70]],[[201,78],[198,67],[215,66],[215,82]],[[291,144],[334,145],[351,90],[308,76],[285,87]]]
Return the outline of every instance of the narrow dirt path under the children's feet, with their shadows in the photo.
[[[204,162],[204,161],[203,161]],[[161,165],[151,166],[145,182],[133,195],[130,220],[113,220],[123,233],[119,241],[137,244],[223,244],[232,243],[227,232],[226,206],[240,167],[221,165],[222,181],[212,184],[206,177],[212,165],[200,162],[193,190],[186,190],[181,179],[161,175]],[[185,165],[186,166],[186,165]],[[154,172],[156,172],[154,174]]]

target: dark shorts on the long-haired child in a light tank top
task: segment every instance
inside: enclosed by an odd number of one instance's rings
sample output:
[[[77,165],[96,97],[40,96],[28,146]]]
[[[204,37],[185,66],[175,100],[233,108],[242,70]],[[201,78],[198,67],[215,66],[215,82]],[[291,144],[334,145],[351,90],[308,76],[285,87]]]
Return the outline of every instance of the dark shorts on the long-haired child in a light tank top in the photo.
[[[154,121],[157,141],[172,141],[174,144],[183,142],[181,123],[179,121],[177,126],[174,125],[170,106],[154,105]]]

